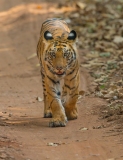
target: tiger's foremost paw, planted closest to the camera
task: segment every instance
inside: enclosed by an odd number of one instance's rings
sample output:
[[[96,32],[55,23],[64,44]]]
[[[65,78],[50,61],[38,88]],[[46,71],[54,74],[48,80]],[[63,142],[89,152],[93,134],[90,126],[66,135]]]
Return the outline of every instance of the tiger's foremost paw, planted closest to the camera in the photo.
[[[67,123],[67,118],[53,118],[49,122],[49,127],[65,127]]]

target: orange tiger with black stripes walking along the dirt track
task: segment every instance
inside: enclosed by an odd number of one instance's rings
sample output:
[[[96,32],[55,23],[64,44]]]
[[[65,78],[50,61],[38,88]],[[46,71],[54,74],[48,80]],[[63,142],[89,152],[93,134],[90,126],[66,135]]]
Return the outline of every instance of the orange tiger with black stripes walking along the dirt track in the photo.
[[[79,61],[77,33],[59,18],[43,22],[37,44],[44,95],[44,118],[49,127],[65,127],[78,117]],[[63,87],[61,89],[61,81]]]

